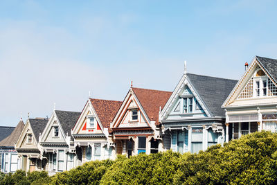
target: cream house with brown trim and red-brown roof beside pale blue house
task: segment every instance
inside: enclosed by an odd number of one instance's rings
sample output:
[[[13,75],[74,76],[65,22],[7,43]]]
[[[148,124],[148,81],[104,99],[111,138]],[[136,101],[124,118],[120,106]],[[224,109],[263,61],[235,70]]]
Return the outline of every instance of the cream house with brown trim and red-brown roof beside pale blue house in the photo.
[[[134,88],[131,85],[111,123],[116,154],[138,155],[163,149],[159,112],[172,92]]]

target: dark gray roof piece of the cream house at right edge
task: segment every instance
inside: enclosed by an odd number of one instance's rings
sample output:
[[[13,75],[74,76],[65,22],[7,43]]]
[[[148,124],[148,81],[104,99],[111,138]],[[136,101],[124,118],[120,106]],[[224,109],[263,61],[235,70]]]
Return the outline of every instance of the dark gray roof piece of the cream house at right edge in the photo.
[[[269,72],[269,74],[277,82],[277,60],[272,58],[263,58],[256,56],[258,61],[262,64],[263,67]]]

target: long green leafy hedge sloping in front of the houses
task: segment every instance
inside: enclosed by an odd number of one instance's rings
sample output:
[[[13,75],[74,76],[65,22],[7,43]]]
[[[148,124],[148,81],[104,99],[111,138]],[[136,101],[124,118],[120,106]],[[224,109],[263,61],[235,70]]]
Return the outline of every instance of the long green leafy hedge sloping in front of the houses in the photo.
[[[53,177],[44,171],[0,173],[0,184],[277,184],[277,134],[248,134],[199,154],[118,155]]]

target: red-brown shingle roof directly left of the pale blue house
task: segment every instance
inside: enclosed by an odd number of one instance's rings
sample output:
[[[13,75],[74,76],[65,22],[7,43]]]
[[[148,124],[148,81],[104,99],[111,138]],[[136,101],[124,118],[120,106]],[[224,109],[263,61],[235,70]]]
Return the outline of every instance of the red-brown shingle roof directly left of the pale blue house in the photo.
[[[141,89],[132,87],[136,98],[139,99],[139,103],[143,106],[148,118],[152,121],[156,121],[156,125],[159,125],[159,110],[163,109],[164,105],[170,98],[172,92],[170,91],[158,91],[152,89]]]

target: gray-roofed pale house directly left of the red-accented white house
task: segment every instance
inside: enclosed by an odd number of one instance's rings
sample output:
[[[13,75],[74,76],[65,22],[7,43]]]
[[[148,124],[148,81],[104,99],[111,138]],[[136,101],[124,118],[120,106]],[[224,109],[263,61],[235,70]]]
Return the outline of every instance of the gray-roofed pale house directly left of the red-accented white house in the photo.
[[[53,110],[53,114],[39,137],[42,155],[47,159],[46,170],[49,175],[75,167],[75,148],[71,129],[80,112]]]

